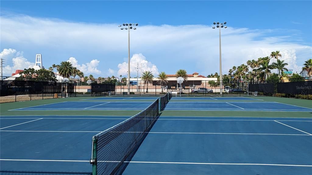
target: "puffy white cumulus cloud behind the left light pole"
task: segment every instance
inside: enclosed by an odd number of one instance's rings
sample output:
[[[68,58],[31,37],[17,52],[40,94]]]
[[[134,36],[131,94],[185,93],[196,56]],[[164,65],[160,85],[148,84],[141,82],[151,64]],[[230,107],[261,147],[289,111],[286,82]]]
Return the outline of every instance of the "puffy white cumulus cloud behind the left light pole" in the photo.
[[[158,74],[158,69],[155,64],[152,64],[151,62],[146,60],[146,57],[143,54],[134,54],[130,59],[130,74],[131,76],[135,77],[137,76],[137,67],[139,65],[139,68],[142,66],[142,72],[144,71],[151,71],[154,76]],[[127,76],[128,72],[128,62],[123,62],[121,64],[118,64],[118,75]],[[141,70],[139,70],[139,76],[141,75]]]

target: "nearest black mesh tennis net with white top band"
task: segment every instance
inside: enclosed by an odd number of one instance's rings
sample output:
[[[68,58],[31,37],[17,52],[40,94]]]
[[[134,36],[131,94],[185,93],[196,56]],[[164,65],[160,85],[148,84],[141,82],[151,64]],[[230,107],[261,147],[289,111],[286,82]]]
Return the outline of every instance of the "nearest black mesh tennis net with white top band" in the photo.
[[[159,115],[159,99],[92,138],[93,175],[122,174]]]

